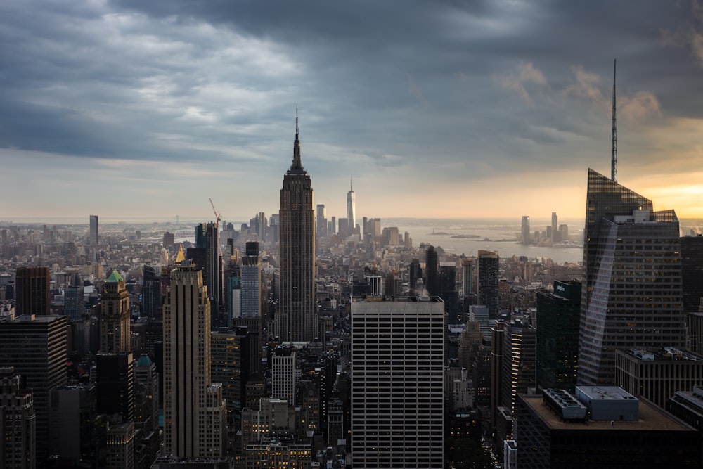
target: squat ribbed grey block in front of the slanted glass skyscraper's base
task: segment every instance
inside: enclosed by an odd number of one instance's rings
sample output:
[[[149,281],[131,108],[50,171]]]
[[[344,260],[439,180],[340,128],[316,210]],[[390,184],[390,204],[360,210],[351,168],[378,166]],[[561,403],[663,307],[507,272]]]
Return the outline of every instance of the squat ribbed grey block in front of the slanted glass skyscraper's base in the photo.
[[[676,391],[703,383],[703,356],[673,347],[615,351],[615,384],[666,409]]]

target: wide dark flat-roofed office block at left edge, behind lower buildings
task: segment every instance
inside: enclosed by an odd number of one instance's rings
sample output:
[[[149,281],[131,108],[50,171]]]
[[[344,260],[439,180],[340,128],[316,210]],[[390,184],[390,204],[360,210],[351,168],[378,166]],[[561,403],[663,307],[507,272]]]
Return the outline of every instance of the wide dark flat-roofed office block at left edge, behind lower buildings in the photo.
[[[53,314],[18,316],[0,322],[0,365],[12,366],[27,380],[37,415],[37,465],[49,456],[49,396],[55,387],[66,385],[67,319]]]

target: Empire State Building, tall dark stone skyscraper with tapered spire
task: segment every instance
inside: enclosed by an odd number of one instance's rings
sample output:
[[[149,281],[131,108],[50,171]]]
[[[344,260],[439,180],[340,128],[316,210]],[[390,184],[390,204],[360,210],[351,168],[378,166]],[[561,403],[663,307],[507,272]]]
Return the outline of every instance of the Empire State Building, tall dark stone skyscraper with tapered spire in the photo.
[[[293,161],[280,190],[280,301],[276,333],[282,342],[311,342],[317,335],[313,207],[310,176],[300,162],[296,111]]]

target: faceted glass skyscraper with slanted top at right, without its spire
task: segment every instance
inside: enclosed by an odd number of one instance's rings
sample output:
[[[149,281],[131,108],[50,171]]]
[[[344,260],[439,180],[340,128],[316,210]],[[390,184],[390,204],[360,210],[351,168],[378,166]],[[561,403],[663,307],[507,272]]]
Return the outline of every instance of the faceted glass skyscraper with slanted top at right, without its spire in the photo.
[[[685,348],[681,242],[673,210],[588,170],[579,385],[611,385],[615,349]]]

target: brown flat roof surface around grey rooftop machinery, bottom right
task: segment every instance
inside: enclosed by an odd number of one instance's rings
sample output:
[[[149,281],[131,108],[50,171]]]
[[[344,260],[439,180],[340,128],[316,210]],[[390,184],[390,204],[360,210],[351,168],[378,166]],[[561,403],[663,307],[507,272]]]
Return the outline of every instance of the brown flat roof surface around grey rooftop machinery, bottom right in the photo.
[[[697,431],[677,418],[670,416],[653,404],[640,400],[639,420],[610,420],[564,421],[543,402],[541,395],[520,394],[525,404],[538,415],[548,428],[554,430],[668,430],[668,431]]]

